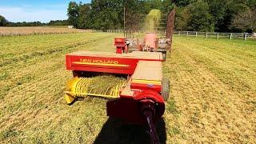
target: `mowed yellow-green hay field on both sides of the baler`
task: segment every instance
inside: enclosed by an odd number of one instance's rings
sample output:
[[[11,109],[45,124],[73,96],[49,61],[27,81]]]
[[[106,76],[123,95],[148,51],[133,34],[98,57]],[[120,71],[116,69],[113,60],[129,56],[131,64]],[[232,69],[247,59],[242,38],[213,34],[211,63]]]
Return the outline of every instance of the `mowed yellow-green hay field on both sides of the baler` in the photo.
[[[114,52],[116,34],[0,38],[0,143],[145,143],[137,126],[106,117],[106,100],[67,106],[65,54]],[[256,42],[174,37],[163,68],[170,100],[162,143],[256,142]]]

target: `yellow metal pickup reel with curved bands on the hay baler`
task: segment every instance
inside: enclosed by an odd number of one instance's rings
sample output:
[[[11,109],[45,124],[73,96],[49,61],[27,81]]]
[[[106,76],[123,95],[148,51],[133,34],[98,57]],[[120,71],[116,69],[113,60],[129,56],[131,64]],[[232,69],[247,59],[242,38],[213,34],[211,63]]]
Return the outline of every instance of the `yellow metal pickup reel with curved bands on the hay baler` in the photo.
[[[67,82],[65,93],[65,100],[67,104],[71,104],[79,97],[100,97],[100,98],[119,98],[119,91],[126,86],[126,82],[117,83],[116,86],[108,87],[106,91],[88,90],[92,82],[92,78],[78,78],[75,77]]]

